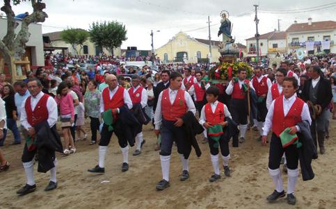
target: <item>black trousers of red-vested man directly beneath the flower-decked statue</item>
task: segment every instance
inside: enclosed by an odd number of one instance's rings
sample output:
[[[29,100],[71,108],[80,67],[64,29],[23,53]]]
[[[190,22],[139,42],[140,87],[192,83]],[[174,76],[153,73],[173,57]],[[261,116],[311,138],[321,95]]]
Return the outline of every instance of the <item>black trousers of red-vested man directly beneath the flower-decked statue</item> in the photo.
[[[248,124],[246,99],[231,99],[230,112],[234,122],[241,125]]]

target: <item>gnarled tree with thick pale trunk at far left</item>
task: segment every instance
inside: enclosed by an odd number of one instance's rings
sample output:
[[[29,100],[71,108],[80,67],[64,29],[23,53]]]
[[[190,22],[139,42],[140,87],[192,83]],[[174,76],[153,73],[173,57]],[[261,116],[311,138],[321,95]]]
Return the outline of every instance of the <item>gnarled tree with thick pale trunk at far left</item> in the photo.
[[[45,18],[48,17],[47,13],[43,11],[45,3],[42,3],[42,0],[13,0],[12,2],[16,6],[22,1],[31,1],[33,13],[22,19],[21,29],[17,34],[15,34],[15,28],[18,24],[15,22],[15,13],[10,5],[10,0],[3,0],[3,6],[1,7],[1,11],[5,12],[7,17],[7,33],[3,40],[0,40],[0,50],[5,62],[9,64],[11,73],[13,72],[12,60],[21,60],[25,53],[26,42],[29,41],[31,35],[28,31],[29,24],[45,22]]]

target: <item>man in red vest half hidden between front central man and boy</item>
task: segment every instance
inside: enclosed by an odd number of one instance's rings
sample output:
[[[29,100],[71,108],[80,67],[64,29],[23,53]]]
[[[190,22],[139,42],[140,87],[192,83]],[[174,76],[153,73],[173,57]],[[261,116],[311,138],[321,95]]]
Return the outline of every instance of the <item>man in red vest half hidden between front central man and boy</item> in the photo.
[[[191,85],[191,87],[188,90],[188,93],[193,96],[193,101],[195,101],[195,107],[196,110],[198,110],[198,114],[200,116],[200,112],[207,103],[205,99],[205,90],[207,90],[208,87],[210,87],[210,84],[205,84],[205,81],[201,81],[203,78],[202,72],[198,71],[195,72],[196,80],[197,82]],[[207,130],[203,132],[204,135],[204,143],[207,143]]]

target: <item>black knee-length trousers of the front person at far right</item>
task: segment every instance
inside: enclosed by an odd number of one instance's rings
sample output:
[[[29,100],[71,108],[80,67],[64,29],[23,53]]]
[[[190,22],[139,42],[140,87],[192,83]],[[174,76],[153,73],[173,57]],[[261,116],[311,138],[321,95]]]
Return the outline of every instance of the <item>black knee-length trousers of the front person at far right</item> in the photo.
[[[280,137],[272,133],[271,143],[269,144],[269,168],[278,169],[283,153],[286,154],[288,169],[298,168],[298,149],[296,144],[291,144],[286,148],[282,147]]]

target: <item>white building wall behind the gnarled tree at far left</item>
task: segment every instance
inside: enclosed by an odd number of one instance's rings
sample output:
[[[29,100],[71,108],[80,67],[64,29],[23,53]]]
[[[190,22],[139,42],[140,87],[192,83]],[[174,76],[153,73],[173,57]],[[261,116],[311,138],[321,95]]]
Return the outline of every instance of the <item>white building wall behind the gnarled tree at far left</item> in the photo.
[[[16,21],[19,25],[15,29],[15,33],[19,33],[21,30],[21,21]],[[7,33],[7,19],[0,17],[0,39]],[[45,58],[43,52],[43,41],[42,41],[42,26],[41,24],[32,23],[29,24],[29,33],[31,36],[29,37],[29,41],[26,43],[26,53],[24,57],[28,57],[31,65],[33,66],[44,66]],[[0,59],[3,57],[0,51]]]

